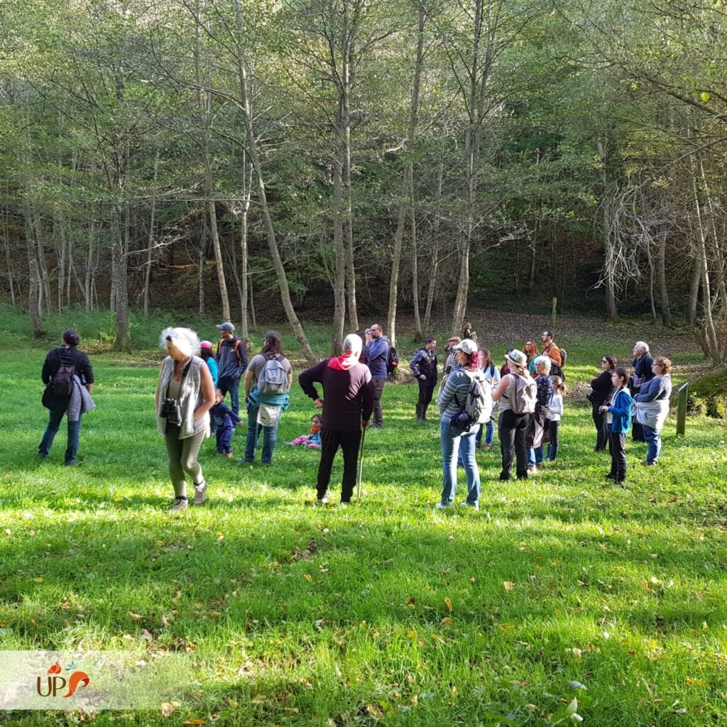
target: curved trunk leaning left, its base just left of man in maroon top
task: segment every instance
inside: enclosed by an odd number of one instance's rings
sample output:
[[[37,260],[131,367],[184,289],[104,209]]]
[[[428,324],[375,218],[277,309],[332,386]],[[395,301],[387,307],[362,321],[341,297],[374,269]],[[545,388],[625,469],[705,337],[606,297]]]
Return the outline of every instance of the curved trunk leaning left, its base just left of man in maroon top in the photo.
[[[300,351],[302,355],[310,364],[316,363],[318,358],[313,353],[313,349],[310,348],[308,339],[305,337],[305,331],[303,326],[300,324],[300,320],[295,313],[293,308],[293,302],[290,300],[290,287],[288,285],[288,278],[286,277],[285,268],[283,261],[280,257],[280,251],[278,250],[278,241],[276,239],[275,228],[273,228],[273,220],[270,217],[270,209],[268,207],[268,196],[265,193],[265,178],[262,174],[262,161],[257,151],[257,137],[254,134],[254,126],[252,123],[252,108],[250,107],[250,100],[248,97],[247,89],[247,69],[245,68],[243,60],[243,30],[242,30],[242,13],[240,9],[240,0],[235,1],[235,18],[237,28],[237,63],[238,63],[238,81],[240,84],[240,100],[243,111],[245,129],[247,133],[247,140],[249,145],[250,162],[252,168],[255,170],[257,177],[257,199],[260,202],[260,215],[262,217],[262,224],[265,228],[265,236],[268,238],[268,248],[270,249],[270,257],[273,258],[273,265],[276,270],[276,278],[278,280],[278,286],[280,288],[281,301],[285,310],[286,318],[288,318],[289,324],[293,329],[293,333],[300,345]]]

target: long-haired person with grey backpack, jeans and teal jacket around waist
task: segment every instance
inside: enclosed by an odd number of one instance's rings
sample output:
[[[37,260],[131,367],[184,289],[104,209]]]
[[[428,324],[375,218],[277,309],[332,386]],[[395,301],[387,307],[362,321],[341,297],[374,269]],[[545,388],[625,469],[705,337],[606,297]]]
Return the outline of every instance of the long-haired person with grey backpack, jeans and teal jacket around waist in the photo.
[[[289,406],[293,367],[283,354],[280,334],[268,331],[257,356],[245,371],[247,441],[243,462],[254,462],[257,442],[262,433],[262,464],[273,464],[273,449],[278,443],[280,417]]]

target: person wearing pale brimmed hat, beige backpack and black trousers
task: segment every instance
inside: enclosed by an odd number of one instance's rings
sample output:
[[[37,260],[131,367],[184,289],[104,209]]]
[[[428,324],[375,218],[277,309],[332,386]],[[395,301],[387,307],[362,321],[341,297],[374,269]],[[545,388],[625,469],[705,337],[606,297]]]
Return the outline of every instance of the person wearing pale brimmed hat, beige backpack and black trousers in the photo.
[[[497,435],[502,451],[502,471],[499,478],[502,481],[510,479],[514,449],[518,480],[526,480],[528,478],[526,430],[530,414],[535,411],[537,385],[528,371],[528,358],[522,351],[513,348],[505,356],[505,361],[510,372],[502,377],[492,395],[493,401],[499,401]]]

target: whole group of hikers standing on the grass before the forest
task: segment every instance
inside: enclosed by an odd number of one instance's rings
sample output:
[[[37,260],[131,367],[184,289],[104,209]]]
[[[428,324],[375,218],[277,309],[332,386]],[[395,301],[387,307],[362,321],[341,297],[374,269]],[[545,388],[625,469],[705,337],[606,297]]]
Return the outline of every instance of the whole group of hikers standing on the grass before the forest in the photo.
[[[174,511],[189,505],[187,478],[194,489],[193,504],[206,501],[207,484],[198,454],[211,430],[216,432],[217,451],[233,456],[234,428],[244,424],[239,414],[241,381],[247,431],[240,464],[254,462],[260,435],[261,461],[273,464],[278,425],[289,406],[293,369],[279,334],[266,333],[260,353],[248,362],[245,342],[235,335],[233,324],[225,321],[217,329],[220,341],[214,354],[212,343],[200,341],[190,329],[167,328],[161,333],[161,347],[167,355],[159,371],[155,411],[158,431],[166,443]],[[505,363],[499,368],[489,350],[480,350],[471,335],[453,336],[447,341],[444,375],[436,399],[443,472],[441,498],[436,505],[439,509],[454,502],[458,465],[464,467],[467,478],[467,497],[462,505],[478,509],[481,481],[475,451],[478,447],[491,449],[495,419],[502,455],[500,480],[510,479],[513,465],[517,478],[524,479],[537,473],[544,462],[558,457],[566,356],[555,345],[552,332],[544,331],[541,340],[542,353],[534,340],[528,340],[523,351],[508,349]],[[50,414],[38,455],[41,459],[48,457],[60,421],[67,414],[67,465],[76,463],[81,415],[94,406],[90,396],[94,375],[88,356],[78,348],[79,341],[76,331],[65,331],[61,347],[49,351],[41,373],[46,384],[44,403]],[[417,422],[427,421],[427,409],[439,381],[436,346],[436,340],[429,337],[411,358],[411,372],[419,386]],[[617,482],[626,477],[625,441],[632,411],[633,437],[648,443],[646,465],[655,465],[659,459],[661,430],[669,411],[670,360],[663,356],[652,359],[644,342],[635,345],[633,354],[632,376],[617,365],[614,356],[603,356],[602,372],[591,382],[588,395],[596,429],[595,451],[608,449],[611,470],[607,476]],[[302,391],[321,409],[311,419],[310,433],[291,442],[321,451],[318,503],[329,502],[329,482],[338,449],[344,460],[341,504],[350,502],[363,433],[369,426],[384,426],[382,393],[389,355],[390,342],[382,326],[374,324],[366,331],[348,335],[340,356],[326,358],[298,377]],[[61,384],[64,377],[69,385]],[[225,404],[228,393],[230,406]],[[463,416],[470,411],[473,398],[479,402],[473,405],[479,417],[475,422]]]

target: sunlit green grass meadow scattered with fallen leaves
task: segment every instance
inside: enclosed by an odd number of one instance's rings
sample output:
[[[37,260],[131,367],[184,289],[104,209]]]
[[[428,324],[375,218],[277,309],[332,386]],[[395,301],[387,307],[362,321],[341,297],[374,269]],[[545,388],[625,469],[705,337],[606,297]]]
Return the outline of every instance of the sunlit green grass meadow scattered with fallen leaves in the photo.
[[[17,326],[5,316],[4,340]],[[479,513],[434,510],[438,424],[414,425],[407,385],[387,386],[386,428],[366,435],[361,502],[306,506],[318,455],[283,444],[313,411],[295,385],[274,467],[238,467],[206,441],[208,505],[170,515],[153,417],[161,353],[93,357],[97,409],[80,466],[64,468],[63,428],[51,460],[33,459],[54,343],[2,350],[0,650],[189,651],[205,689],[168,717],[160,705],[0,723],[534,726],[576,723],[573,711],[593,726],[723,723],[725,427],[691,418],[676,438],[670,417],[659,467],[640,467],[646,446],[629,443],[627,486],[606,484],[582,382],[632,340],[563,340],[572,394],[558,462],[501,483],[497,447],[478,453]],[[506,345],[491,348],[501,358]],[[243,442],[238,430],[236,454]],[[464,490],[460,473],[458,501]]]

